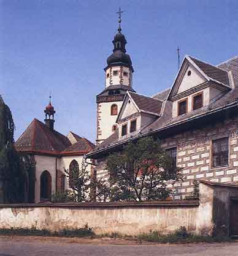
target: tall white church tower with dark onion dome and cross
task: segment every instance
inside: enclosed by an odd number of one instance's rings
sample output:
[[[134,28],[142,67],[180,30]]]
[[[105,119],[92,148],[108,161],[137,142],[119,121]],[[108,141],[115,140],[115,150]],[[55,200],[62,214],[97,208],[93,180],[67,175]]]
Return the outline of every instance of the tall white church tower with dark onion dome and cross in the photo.
[[[117,129],[117,116],[120,111],[126,91],[132,89],[132,73],[134,72],[131,57],[126,54],[126,38],[121,33],[121,9],[117,12],[118,33],[112,41],[113,54],[107,58],[104,68],[106,87],[96,97],[97,111],[97,145],[112,135]]]

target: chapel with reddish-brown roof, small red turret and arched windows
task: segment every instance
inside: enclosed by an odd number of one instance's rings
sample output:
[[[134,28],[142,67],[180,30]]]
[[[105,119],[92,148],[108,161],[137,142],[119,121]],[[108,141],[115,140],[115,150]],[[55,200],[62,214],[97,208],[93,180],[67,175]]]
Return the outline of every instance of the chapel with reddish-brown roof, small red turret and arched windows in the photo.
[[[15,143],[18,153],[29,155],[34,162],[34,184],[28,180],[26,202],[50,201],[56,192],[69,189],[64,169],[70,172],[75,166],[80,168],[85,154],[94,148],[86,138],[73,132],[66,137],[54,129],[51,100],[44,112],[45,122],[34,119]],[[87,168],[92,174],[92,166],[88,164]]]

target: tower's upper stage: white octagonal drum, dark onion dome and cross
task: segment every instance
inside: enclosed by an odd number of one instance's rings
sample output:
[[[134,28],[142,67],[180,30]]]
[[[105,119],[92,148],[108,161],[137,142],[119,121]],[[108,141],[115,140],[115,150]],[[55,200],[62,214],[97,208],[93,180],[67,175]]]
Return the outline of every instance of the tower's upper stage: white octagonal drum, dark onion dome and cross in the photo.
[[[131,57],[126,54],[126,38],[121,33],[121,9],[117,12],[118,33],[115,34],[112,41],[114,49],[113,54],[107,58],[106,71],[106,87],[109,86],[132,86],[132,73],[134,72]]]

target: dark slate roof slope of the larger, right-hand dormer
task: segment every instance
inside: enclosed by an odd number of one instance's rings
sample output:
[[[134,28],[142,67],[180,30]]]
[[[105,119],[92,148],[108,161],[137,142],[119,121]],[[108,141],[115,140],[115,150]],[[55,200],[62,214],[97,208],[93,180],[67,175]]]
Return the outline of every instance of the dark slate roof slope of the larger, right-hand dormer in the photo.
[[[189,56],[191,60],[207,75],[218,82],[229,86],[229,76],[226,70],[222,70],[217,66],[210,65],[209,63],[202,62],[196,58]]]

